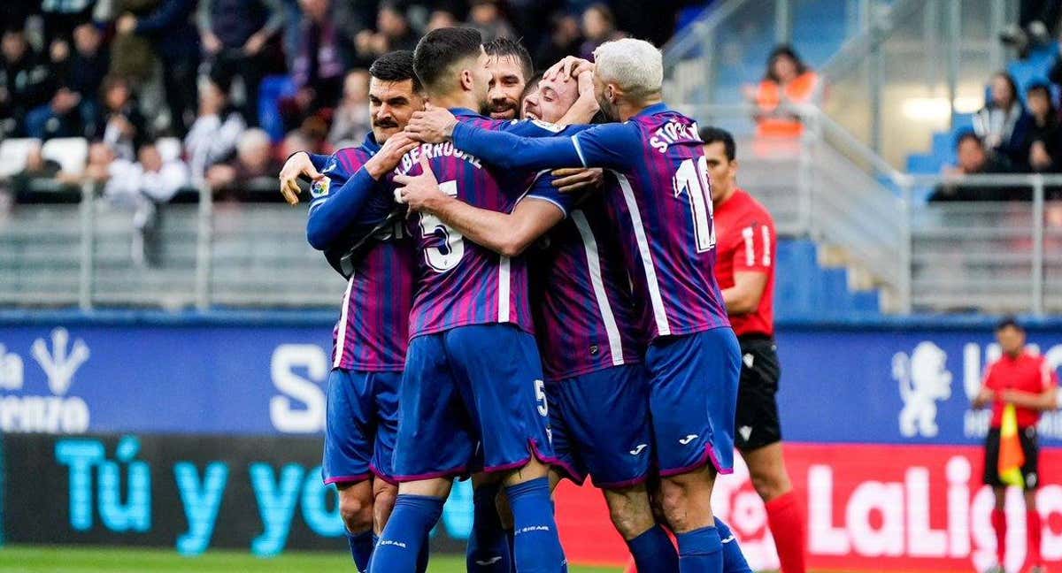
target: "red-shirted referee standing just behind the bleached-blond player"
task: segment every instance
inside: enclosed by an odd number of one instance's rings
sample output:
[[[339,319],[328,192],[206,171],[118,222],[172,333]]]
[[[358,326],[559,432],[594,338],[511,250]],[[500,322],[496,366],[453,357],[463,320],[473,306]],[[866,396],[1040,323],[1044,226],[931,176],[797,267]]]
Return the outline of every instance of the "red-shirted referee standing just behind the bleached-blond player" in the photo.
[[[774,221],[758,201],[737,187],[731,134],[704,127],[700,135],[712,178],[718,241],[716,278],[741,345],[735,445],[767,507],[782,571],[805,573],[805,511],[782,457],[782,428],[774,400],[781,375],[774,345]]]

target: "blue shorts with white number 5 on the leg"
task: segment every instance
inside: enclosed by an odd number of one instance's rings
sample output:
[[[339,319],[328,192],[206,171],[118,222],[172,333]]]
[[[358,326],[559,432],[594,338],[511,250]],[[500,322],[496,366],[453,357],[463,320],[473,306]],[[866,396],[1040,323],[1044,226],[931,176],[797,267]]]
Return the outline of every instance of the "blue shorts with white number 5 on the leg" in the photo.
[[[504,471],[532,455],[553,462],[534,337],[508,324],[473,325],[409,343],[399,399],[399,482]]]

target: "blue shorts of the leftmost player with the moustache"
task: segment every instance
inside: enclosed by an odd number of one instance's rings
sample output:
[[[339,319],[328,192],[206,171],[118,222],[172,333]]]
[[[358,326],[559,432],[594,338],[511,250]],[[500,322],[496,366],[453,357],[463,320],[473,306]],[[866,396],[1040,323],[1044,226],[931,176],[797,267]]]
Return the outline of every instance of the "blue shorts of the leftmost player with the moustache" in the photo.
[[[326,484],[355,483],[376,474],[395,483],[392,458],[398,433],[401,372],[335,368],[328,375],[325,453]]]

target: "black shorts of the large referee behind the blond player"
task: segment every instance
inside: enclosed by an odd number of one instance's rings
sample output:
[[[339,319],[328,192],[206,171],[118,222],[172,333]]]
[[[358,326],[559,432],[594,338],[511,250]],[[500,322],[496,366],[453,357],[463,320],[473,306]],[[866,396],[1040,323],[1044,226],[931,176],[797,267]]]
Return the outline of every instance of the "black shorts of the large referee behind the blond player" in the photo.
[[[773,338],[749,334],[738,337],[738,343],[741,381],[737,390],[734,445],[748,452],[782,441],[778,404],[774,399],[782,367]]]

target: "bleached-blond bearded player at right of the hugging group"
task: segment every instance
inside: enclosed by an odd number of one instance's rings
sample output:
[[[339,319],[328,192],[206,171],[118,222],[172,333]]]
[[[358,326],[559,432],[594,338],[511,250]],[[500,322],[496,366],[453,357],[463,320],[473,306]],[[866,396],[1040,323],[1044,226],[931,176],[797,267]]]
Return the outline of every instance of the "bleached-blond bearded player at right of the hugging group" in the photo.
[[[458,147],[502,167],[614,170],[619,189],[606,194],[610,219],[619,227],[636,298],[647,301],[646,365],[664,513],[678,534],[680,570],[722,571],[722,545],[732,538],[720,538],[710,493],[716,473],[732,471],[739,350],[712,275],[703,150],[696,124],[661,101],[658,50],[624,39],[595,55],[601,109],[623,123],[552,138],[452,120],[446,131]],[[416,127],[413,121],[407,131]]]

